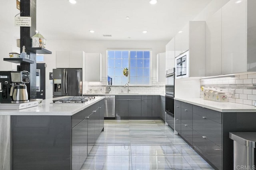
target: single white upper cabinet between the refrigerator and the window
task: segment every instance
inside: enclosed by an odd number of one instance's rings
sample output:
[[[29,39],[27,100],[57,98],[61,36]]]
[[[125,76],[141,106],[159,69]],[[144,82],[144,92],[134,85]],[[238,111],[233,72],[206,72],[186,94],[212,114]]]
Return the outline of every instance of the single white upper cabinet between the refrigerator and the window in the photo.
[[[85,54],[86,81],[102,81],[102,55],[101,53]]]

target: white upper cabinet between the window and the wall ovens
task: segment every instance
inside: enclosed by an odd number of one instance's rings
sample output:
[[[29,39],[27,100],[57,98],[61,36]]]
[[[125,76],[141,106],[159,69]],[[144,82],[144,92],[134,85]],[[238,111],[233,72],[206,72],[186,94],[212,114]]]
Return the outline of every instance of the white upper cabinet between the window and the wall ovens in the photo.
[[[159,53],[156,55],[156,81],[165,82],[165,65],[166,53]]]

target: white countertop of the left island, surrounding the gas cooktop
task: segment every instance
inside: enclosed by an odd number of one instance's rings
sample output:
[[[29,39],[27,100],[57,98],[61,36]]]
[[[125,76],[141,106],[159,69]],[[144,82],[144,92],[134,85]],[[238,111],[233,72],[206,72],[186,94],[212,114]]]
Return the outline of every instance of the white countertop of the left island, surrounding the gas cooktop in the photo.
[[[64,96],[67,97],[67,96]],[[63,97],[58,97],[63,98]],[[58,99],[54,98],[54,99]],[[0,110],[0,115],[58,115],[58,116],[72,116],[79,111],[97,103],[104,99],[104,96],[95,97],[85,103],[53,103],[52,99],[43,100],[41,104],[36,107],[30,107],[21,110]]]

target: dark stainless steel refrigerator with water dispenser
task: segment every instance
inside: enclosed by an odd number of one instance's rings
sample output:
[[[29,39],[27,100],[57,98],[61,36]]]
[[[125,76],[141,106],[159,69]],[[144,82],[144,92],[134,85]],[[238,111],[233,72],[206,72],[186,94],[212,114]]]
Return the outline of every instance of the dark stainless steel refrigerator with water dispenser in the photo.
[[[53,69],[53,97],[82,96],[82,69]]]

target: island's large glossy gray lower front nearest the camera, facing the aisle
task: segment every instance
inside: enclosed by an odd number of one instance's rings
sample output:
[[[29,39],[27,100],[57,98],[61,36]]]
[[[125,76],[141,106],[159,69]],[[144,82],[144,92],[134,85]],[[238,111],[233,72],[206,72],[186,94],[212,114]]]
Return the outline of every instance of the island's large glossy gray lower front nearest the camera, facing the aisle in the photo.
[[[87,157],[87,124],[85,118],[72,128],[72,170],[79,170]]]

